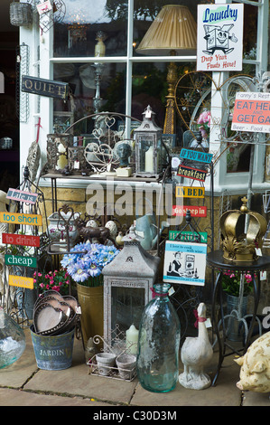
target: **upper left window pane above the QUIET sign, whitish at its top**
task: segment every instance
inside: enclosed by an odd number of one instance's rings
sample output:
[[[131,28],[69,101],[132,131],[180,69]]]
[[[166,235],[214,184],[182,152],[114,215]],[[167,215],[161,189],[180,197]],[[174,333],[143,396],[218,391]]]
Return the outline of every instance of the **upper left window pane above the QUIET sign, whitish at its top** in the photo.
[[[106,0],[65,0],[65,5],[63,21],[54,24],[54,57],[95,56],[97,43],[99,52],[103,46],[99,56],[126,55],[126,11],[117,14]]]

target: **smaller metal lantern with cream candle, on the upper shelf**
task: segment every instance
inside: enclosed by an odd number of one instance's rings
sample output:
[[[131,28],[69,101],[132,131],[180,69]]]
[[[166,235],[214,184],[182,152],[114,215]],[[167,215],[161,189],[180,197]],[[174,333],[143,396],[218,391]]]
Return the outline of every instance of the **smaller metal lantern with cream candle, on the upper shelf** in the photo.
[[[163,130],[154,121],[155,113],[148,107],[143,112],[142,124],[135,128],[135,174],[141,177],[159,177],[163,171],[165,149]]]

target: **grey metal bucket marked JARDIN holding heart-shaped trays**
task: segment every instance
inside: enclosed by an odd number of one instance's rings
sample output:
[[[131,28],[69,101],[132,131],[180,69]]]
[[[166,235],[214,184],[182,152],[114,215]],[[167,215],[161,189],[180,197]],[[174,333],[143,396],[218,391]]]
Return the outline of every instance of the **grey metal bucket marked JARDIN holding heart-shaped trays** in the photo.
[[[30,326],[36,364],[40,369],[60,371],[72,363],[75,327],[61,335],[37,335]]]

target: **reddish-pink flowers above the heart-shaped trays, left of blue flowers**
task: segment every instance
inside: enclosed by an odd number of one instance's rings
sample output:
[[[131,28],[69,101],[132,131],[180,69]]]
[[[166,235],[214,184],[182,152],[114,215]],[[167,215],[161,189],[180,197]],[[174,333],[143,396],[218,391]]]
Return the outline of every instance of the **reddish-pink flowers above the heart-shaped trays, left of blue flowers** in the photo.
[[[66,269],[33,273],[33,286],[38,289],[39,294],[53,289],[61,295],[68,295],[70,292],[69,273]]]

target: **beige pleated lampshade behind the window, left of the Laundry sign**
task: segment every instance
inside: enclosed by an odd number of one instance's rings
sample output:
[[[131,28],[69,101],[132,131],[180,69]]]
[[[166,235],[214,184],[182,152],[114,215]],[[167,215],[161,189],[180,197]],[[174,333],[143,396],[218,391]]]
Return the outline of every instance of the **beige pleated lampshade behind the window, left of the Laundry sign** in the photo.
[[[187,6],[165,5],[150,25],[136,52],[147,55],[192,55],[197,49],[197,24]]]

